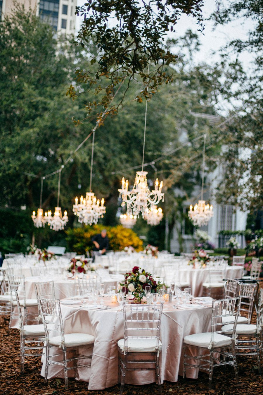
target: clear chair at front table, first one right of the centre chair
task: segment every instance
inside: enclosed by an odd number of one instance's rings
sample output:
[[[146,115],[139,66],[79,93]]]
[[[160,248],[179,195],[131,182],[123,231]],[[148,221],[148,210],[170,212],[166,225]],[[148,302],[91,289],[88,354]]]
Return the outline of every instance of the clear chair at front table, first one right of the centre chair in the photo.
[[[183,376],[187,369],[202,369],[209,373],[209,389],[212,387],[213,369],[224,365],[233,366],[238,381],[235,341],[240,298],[213,300],[211,332],[196,333],[184,337]],[[231,318],[233,331],[226,335],[222,329],[222,317]],[[192,363],[191,360],[194,360]]]

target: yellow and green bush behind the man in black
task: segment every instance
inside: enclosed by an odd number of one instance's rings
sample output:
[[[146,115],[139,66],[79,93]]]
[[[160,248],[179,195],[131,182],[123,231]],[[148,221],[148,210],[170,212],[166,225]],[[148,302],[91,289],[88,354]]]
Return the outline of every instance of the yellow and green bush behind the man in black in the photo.
[[[67,243],[70,251],[85,254],[93,248],[91,238],[106,229],[109,238],[109,249],[114,251],[124,250],[126,246],[133,246],[136,251],[142,251],[142,240],[132,229],[117,226],[93,225],[83,228],[67,229]]]

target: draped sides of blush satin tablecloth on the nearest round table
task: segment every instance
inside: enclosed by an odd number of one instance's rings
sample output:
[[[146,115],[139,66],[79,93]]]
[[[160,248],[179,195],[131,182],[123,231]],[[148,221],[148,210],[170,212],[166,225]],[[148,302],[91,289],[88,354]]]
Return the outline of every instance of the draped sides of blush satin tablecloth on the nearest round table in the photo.
[[[104,298],[107,300],[107,298]],[[108,304],[108,303],[107,303]],[[114,306],[114,305],[110,305]],[[160,374],[162,382],[176,382],[183,374],[183,337],[192,333],[206,332],[211,329],[212,308],[187,308],[185,310],[165,303],[161,322],[162,351],[160,352]],[[117,342],[123,338],[123,312],[119,306],[108,310],[88,310],[85,305],[62,305],[65,333],[90,333],[95,336],[92,350],[80,348],[84,355],[93,354],[91,368],[79,368],[79,380],[89,382],[89,390],[105,389],[118,383]],[[86,354],[85,354],[86,352]],[[45,373],[45,360],[41,375]],[[69,376],[74,376],[73,370]],[[197,378],[198,369],[188,371],[188,377]],[[61,377],[60,367],[52,365],[48,378]],[[128,384],[149,384],[155,381],[153,371],[127,372],[125,382]]]

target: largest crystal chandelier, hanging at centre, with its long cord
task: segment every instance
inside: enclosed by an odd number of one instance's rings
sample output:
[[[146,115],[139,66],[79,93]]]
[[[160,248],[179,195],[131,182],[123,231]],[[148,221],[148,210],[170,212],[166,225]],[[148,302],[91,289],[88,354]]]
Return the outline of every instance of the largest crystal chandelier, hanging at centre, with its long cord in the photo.
[[[149,74],[149,68],[148,68]],[[147,171],[144,171],[144,150],[145,150],[145,134],[146,134],[146,119],[147,119],[147,100],[145,105],[145,120],[144,120],[144,148],[142,154],[142,171],[136,172],[134,185],[131,191],[128,190],[129,181],[121,180],[121,188],[118,189],[119,197],[121,197],[121,206],[126,205],[127,212],[135,215],[145,214],[150,210],[151,206],[157,205],[160,200],[164,201],[164,193],[162,192],[163,182],[159,184],[158,178],[155,181],[155,189],[150,191],[147,184]]]

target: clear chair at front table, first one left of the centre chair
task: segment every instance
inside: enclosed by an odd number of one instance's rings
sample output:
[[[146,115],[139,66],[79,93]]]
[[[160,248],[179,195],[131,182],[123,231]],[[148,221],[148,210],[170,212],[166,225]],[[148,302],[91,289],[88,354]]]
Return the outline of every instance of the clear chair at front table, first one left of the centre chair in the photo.
[[[58,365],[64,371],[65,389],[68,389],[67,372],[74,369],[78,376],[78,368],[90,367],[92,347],[95,341],[88,333],[64,333],[60,301],[39,297],[39,306],[45,329],[45,382],[47,382],[48,367]],[[87,354],[78,353],[80,347],[87,347]],[[90,354],[91,353],[91,354]],[[78,361],[83,360],[81,364]],[[86,361],[85,361],[86,360]],[[88,360],[88,361],[87,361]]]

